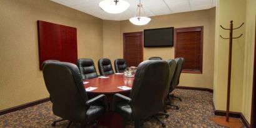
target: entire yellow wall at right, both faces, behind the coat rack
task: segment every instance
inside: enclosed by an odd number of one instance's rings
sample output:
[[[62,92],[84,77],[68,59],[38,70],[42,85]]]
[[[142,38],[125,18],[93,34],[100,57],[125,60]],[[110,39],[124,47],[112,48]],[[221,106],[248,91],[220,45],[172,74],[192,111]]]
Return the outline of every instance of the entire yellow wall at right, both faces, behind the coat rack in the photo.
[[[215,109],[225,111],[229,40],[221,39],[219,35],[229,37],[229,31],[220,29],[219,25],[229,27],[231,19],[234,27],[245,22],[243,27],[234,30],[234,37],[240,34],[244,36],[233,39],[230,111],[242,112],[249,122],[254,69],[255,6],[254,0],[218,0],[215,25],[214,105]]]

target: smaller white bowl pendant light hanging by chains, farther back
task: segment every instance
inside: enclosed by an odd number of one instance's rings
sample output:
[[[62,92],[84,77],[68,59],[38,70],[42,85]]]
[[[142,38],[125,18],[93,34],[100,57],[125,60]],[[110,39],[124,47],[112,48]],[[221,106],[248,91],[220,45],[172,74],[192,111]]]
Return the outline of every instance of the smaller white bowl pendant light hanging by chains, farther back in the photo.
[[[145,11],[142,7],[142,4],[140,4],[140,2],[139,2],[139,4],[137,5],[137,10],[135,12],[135,16],[131,17],[129,19],[129,21],[132,22],[132,24],[135,24],[137,26],[143,26],[143,25],[149,23],[149,21],[151,20],[149,17],[145,17],[145,16],[140,15],[141,9],[143,10],[143,12],[145,14]]]

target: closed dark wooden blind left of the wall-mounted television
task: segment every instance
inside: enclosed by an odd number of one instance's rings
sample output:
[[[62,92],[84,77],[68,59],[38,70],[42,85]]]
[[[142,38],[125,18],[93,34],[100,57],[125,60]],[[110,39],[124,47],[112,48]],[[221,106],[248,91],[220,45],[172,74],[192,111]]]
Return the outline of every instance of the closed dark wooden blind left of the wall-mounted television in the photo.
[[[124,33],[124,59],[127,66],[137,67],[143,61],[143,32]]]

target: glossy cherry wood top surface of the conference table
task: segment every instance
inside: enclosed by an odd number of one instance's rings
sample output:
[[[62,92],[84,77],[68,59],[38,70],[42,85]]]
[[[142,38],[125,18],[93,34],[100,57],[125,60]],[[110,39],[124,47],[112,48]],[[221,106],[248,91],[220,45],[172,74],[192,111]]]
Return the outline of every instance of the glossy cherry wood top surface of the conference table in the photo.
[[[97,87],[97,89],[88,92],[93,94],[116,94],[116,93],[123,93],[123,92],[130,92],[124,91],[117,87],[119,86],[127,86],[132,88],[132,83],[134,82],[134,77],[125,77],[124,74],[112,74],[109,75],[108,78],[93,78],[85,80],[89,83],[84,84],[84,87]]]

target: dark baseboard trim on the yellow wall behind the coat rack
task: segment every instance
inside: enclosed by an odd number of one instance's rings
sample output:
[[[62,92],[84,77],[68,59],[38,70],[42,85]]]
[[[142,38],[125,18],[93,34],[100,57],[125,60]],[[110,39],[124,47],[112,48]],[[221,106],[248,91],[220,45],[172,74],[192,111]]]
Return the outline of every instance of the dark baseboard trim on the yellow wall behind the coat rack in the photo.
[[[215,116],[226,116],[226,111],[215,110],[214,114]],[[241,112],[229,112],[229,116],[234,118],[240,118],[244,123],[245,127],[250,128],[249,122],[245,119],[244,114],[242,114]]]

